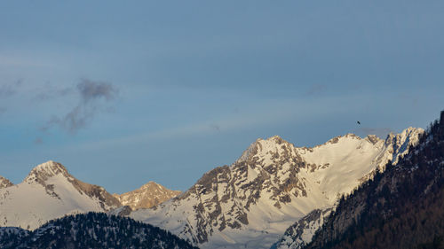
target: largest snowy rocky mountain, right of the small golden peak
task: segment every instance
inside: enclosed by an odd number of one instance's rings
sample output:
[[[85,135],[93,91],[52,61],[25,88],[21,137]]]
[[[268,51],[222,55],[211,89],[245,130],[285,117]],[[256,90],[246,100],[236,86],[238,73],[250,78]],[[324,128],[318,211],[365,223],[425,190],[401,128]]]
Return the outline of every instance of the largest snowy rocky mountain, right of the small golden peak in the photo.
[[[216,167],[178,197],[130,216],[202,248],[269,248],[294,222],[335,206],[377,167],[398,160],[422,132],[408,128],[385,140],[348,134],[313,148],[279,136],[258,139],[231,166]]]

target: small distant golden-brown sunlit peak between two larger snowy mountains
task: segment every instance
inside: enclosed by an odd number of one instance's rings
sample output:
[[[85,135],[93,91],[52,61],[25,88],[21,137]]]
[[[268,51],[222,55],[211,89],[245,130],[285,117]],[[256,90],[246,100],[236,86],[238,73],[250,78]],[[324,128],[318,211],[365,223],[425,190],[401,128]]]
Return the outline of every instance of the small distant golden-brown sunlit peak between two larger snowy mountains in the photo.
[[[156,206],[167,199],[178,196],[180,193],[180,191],[170,191],[161,184],[149,182],[135,191],[121,195],[113,194],[113,196],[118,198],[122,205],[131,206],[132,210],[137,210]]]

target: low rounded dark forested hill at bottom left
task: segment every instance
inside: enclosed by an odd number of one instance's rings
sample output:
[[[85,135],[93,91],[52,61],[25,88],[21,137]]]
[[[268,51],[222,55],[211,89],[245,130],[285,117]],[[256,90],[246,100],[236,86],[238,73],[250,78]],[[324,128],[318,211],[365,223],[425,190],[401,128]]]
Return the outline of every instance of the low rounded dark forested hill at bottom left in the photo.
[[[104,213],[65,216],[34,231],[0,228],[0,248],[197,249],[152,225]]]

